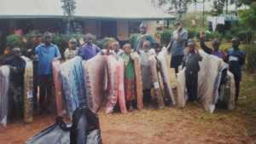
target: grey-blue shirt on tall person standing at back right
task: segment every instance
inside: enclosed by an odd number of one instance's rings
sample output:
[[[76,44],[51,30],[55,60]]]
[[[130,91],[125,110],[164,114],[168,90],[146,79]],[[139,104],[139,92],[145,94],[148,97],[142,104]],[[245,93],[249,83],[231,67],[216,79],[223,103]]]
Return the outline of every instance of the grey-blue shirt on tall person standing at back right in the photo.
[[[177,42],[178,34],[177,31],[172,32],[171,40],[172,40],[172,56],[179,56],[179,55],[185,55],[184,49],[185,49],[185,44],[188,39],[188,31],[182,30],[180,32],[180,37],[182,37],[184,40],[182,43]]]

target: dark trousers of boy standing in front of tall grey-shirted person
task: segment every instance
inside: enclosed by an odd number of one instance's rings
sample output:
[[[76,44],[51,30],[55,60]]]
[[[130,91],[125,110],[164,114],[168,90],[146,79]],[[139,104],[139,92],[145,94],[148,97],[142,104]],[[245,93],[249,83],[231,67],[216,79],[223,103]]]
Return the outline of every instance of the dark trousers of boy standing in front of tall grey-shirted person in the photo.
[[[197,101],[197,78],[198,72],[186,72],[186,87],[188,90],[189,101]]]

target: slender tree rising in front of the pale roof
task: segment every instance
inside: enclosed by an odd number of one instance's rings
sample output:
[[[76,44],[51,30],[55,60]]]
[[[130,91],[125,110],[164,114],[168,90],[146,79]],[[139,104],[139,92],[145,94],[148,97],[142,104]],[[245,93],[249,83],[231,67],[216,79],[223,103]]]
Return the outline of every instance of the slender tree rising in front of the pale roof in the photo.
[[[61,3],[63,3],[61,8],[63,9],[63,14],[64,14],[63,20],[67,22],[67,34],[68,34],[70,21],[73,20],[74,10],[76,9],[76,2],[74,0],[61,0]]]

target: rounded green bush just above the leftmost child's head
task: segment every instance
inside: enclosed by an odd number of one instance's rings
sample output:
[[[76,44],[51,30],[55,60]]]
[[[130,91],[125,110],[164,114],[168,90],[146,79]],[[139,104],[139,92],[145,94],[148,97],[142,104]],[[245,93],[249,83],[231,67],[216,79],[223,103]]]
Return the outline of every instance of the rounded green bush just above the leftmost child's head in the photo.
[[[9,35],[6,37],[6,46],[10,49],[14,49],[15,47],[18,47],[22,49],[23,41],[22,37],[20,35]]]

